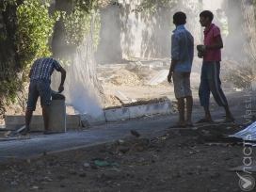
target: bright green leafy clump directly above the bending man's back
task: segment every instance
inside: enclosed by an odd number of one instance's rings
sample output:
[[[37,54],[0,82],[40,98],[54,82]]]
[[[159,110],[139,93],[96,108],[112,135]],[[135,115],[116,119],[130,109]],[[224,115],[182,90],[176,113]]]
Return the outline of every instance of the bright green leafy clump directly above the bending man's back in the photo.
[[[47,43],[54,32],[55,18],[49,16],[49,6],[48,3],[41,5],[39,0],[29,0],[17,8],[16,43],[24,67],[36,58],[51,56]]]

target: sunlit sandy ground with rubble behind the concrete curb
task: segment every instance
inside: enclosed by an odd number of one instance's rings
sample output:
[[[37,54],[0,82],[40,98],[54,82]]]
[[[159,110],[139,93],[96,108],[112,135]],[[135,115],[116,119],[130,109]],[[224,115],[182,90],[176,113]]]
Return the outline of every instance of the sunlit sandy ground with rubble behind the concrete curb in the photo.
[[[143,104],[145,104],[145,101],[152,101],[165,97],[168,97],[172,102],[176,102],[173,93],[173,84],[164,81],[156,86],[147,85],[157,72],[169,69],[169,60],[164,59],[160,60],[160,62],[159,60],[141,62],[144,66],[152,64],[154,66],[152,69],[143,66],[131,66],[131,63],[133,65],[136,61],[137,60],[134,60],[134,62],[127,61],[123,64],[99,65],[97,67],[97,75],[104,88],[104,95],[106,97],[103,107],[111,108],[123,106],[120,100],[115,96],[116,91],[120,91],[131,101],[144,101]],[[201,59],[195,57],[191,73],[191,87],[196,97],[198,96],[198,88],[200,85],[200,66]],[[239,70],[237,70],[237,66],[239,65],[236,61],[223,60],[221,63],[221,79],[222,82],[234,83],[238,85],[239,88],[243,88],[246,80],[255,77],[253,77],[251,72],[244,69],[245,66],[241,66],[241,69]],[[232,76],[231,74],[234,74],[235,76]],[[28,85],[24,85],[24,90],[27,90],[27,88]],[[23,97],[26,97],[26,95],[27,93],[24,92]],[[6,108],[5,114],[7,115],[24,115],[25,112],[24,102],[23,104],[5,104],[4,107]],[[0,109],[2,109],[1,105]],[[72,114],[74,111],[67,107],[67,113]],[[37,110],[34,114],[41,115],[40,103],[37,104]],[[4,124],[4,116],[2,115],[0,115],[0,125],[1,124]]]

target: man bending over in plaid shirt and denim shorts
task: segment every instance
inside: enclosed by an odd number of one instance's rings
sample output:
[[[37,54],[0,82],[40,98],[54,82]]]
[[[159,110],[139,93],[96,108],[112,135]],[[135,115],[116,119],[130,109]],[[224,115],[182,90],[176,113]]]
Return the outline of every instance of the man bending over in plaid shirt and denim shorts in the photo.
[[[66,71],[54,58],[46,57],[37,59],[31,67],[28,74],[30,78],[27,108],[25,112],[25,134],[30,132],[29,124],[32,119],[33,111],[36,109],[38,98],[40,97],[40,105],[42,109],[42,117],[44,123],[43,134],[52,134],[49,128],[49,105],[51,104],[52,89],[51,75],[54,71],[61,72],[61,81],[58,92],[64,90],[64,81],[66,79]]]

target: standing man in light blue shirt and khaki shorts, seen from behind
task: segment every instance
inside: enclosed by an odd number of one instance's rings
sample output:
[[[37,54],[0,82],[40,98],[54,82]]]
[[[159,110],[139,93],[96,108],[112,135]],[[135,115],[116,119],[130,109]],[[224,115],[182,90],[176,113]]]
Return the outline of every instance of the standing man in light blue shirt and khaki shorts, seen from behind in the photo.
[[[193,126],[191,115],[193,97],[190,88],[190,73],[194,57],[194,38],[184,28],[186,15],[176,12],[173,15],[173,24],[176,25],[171,36],[171,63],[168,72],[168,82],[173,78],[174,93],[178,101],[179,121],[171,127]],[[186,99],[186,120],[184,120],[184,98]]]

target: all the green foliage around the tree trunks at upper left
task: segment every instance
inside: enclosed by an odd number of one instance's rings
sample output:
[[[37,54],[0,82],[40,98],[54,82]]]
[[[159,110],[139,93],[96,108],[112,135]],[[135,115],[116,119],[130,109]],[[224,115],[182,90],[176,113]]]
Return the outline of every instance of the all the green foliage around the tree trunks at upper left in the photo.
[[[64,1],[64,0],[63,0]],[[39,0],[0,0],[0,12],[7,6],[17,8],[15,36],[12,36],[17,47],[19,62],[22,69],[17,69],[17,63],[1,63],[0,65],[0,98],[8,98],[8,104],[17,103],[17,91],[22,88],[24,77],[33,61],[39,57],[51,56],[49,38],[54,32],[54,24],[62,17],[67,30],[67,41],[75,46],[88,36],[91,27],[94,28],[94,50],[100,42],[100,13],[96,8],[103,8],[110,0],[76,0],[71,15],[56,11],[54,16],[49,14],[49,0],[40,4]],[[96,24],[91,25],[93,11],[97,12]],[[0,34],[0,39],[7,40],[6,34]],[[65,66],[70,60],[58,59]],[[19,72],[21,72],[19,74]],[[19,75],[18,75],[19,74]],[[26,76],[26,75],[24,75]],[[27,80],[27,79],[26,79]]]

